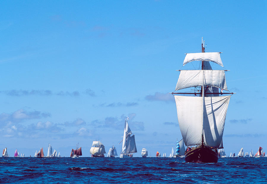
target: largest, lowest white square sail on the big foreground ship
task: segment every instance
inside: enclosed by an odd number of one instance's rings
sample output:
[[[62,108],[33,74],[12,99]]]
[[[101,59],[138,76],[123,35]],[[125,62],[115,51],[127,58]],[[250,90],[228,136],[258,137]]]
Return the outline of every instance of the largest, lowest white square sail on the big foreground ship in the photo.
[[[186,146],[198,145],[202,136],[202,118],[204,142],[216,148],[222,148],[222,134],[230,96],[202,97],[174,96],[179,127]]]

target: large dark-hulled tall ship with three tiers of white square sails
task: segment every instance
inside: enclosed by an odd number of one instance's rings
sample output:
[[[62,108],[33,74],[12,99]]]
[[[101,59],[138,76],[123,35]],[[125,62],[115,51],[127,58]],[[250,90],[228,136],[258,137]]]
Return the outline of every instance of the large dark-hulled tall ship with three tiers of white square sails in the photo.
[[[212,70],[210,65],[214,62],[223,67],[221,52],[205,52],[204,43],[202,37],[200,53],[186,54],[183,66],[193,61],[200,63],[195,65],[196,70],[177,70],[180,74],[175,92],[171,94],[175,98],[179,127],[187,146],[185,161],[214,163],[218,162],[217,149],[223,148],[225,117],[234,93],[230,93],[226,85],[225,71],[229,70]],[[183,90],[185,88],[190,91]]]

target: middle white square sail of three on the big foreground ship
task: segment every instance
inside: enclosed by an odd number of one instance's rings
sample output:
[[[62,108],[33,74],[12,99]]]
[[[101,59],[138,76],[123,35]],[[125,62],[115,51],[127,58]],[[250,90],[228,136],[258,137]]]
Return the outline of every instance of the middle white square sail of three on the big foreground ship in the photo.
[[[204,72],[204,86],[216,86],[228,90],[224,70],[181,70],[176,90],[202,86]]]

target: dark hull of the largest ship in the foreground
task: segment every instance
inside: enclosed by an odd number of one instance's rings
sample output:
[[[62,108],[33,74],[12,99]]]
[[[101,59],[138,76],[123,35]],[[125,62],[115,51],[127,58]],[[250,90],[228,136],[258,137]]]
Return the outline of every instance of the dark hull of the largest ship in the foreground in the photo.
[[[185,153],[185,162],[217,163],[218,153],[206,147],[198,147]]]

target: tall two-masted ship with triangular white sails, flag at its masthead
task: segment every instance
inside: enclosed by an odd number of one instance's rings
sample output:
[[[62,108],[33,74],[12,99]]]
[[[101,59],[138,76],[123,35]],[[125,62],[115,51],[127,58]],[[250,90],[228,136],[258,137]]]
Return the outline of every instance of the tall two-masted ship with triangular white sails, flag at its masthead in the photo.
[[[133,157],[133,153],[137,153],[135,138],[132,135],[132,131],[128,125],[128,116],[125,118],[124,132],[123,132],[123,142],[122,151],[120,153],[120,158]]]

